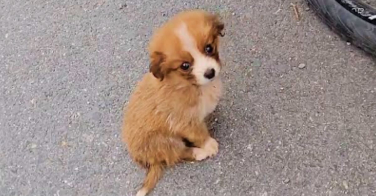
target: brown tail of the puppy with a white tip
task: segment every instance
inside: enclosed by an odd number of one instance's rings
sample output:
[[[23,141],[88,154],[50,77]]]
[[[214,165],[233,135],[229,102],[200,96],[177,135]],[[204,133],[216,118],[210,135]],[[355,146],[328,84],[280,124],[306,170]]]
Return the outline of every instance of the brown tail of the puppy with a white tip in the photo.
[[[144,179],[143,187],[137,192],[136,196],[146,196],[157,184],[158,180],[162,177],[162,165],[150,165],[147,170],[146,178]]]

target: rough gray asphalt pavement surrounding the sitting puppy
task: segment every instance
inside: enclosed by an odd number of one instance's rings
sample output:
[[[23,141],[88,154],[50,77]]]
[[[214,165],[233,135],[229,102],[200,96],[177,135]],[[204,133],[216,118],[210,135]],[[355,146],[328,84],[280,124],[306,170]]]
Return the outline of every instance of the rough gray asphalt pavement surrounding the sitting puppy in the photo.
[[[303,0],[2,0],[0,195],[133,196],[144,171],[120,142],[123,103],[153,29],[190,8],[226,24],[220,152],[150,195],[376,195],[374,59]]]

